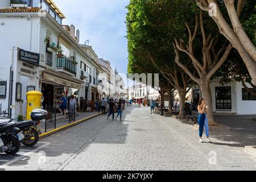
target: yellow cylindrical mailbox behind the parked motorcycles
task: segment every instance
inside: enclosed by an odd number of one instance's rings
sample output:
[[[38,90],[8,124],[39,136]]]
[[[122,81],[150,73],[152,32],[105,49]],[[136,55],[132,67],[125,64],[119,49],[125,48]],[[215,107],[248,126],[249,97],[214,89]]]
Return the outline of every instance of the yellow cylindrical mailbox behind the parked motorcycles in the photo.
[[[41,109],[42,93],[38,91],[27,92],[27,119],[31,119],[30,114],[34,109]]]

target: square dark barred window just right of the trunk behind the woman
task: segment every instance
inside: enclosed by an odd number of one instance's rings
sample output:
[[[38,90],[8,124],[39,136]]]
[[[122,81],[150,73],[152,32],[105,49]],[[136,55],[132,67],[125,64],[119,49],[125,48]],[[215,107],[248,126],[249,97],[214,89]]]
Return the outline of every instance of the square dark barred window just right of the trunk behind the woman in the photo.
[[[215,88],[216,109],[232,109],[231,86],[219,86]]]

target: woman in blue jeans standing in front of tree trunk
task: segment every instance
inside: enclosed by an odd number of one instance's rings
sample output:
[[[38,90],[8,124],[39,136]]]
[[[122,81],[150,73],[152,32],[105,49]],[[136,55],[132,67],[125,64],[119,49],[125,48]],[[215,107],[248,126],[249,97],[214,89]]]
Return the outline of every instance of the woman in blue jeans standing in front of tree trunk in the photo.
[[[210,143],[209,123],[208,123],[208,118],[207,118],[208,106],[205,105],[205,99],[204,98],[200,99],[197,110],[199,111],[198,123],[199,123],[200,142],[203,143],[202,137],[203,137],[203,132],[204,132],[204,129],[205,129],[205,135],[207,137],[207,142]]]

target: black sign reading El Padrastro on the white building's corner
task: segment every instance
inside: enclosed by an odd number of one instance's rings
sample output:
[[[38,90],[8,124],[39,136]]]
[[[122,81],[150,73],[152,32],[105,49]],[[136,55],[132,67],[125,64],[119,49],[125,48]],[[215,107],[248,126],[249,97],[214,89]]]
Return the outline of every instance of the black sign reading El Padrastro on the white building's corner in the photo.
[[[38,67],[40,61],[40,54],[34,52],[24,51],[23,49],[19,49],[18,57],[20,61],[24,61],[26,63],[35,65]]]

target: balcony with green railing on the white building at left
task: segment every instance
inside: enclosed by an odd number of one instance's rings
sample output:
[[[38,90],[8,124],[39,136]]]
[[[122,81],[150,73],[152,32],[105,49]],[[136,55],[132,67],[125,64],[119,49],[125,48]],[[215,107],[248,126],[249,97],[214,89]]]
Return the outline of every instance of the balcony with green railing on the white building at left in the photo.
[[[66,56],[57,57],[57,71],[76,76],[77,63]]]

